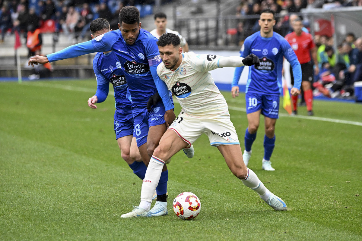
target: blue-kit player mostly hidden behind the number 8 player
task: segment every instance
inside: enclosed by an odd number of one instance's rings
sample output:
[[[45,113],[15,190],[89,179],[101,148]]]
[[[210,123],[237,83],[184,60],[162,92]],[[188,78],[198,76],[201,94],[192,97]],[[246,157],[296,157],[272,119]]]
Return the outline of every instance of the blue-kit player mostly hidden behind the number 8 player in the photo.
[[[92,39],[110,31],[109,22],[104,18],[97,18],[90,23]],[[93,59],[93,70],[96,74],[97,91],[88,99],[88,106],[96,109],[96,103],[104,102],[108,96],[109,83],[113,85],[115,112],[114,132],[121,150],[123,160],[129,165],[136,176],[144,179],[146,165],[139,154],[134,135],[133,114],[131,110],[130,94],[125,72],[116,68],[118,57],[113,51],[98,52]]]

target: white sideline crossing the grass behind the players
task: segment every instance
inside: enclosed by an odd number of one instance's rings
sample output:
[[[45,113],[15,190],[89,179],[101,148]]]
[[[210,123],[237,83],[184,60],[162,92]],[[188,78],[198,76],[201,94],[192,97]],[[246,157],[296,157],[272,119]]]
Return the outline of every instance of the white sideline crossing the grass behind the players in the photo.
[[[50,83],[49,82],[48,83],[46,83],[46,82],[22,82],[22,84],[23,85],[35,85],[35,86],[39,86],[39,87],[58,88],[58,89],[62,89],[62,90],[91,92],[91,93],[95,93],[95,89],[96,89],[96,88],[89,89],[89,88],[83,88],[83,87],[73,87],[73,86],[70,86],[70,85],[60,85],[60,84],[51,83],[51,82]],[[114,91],[109,91],[108,95],[113,95],[114,96]],[[173,99],[173,102],[178,103],[176,98]],[[180,104],[180,103],[178,103],[178,104]],[[233,106],[229,106],[229,109],[232,109],[234,111],[243,111],[243,112],[247,111],[245,108],[233,107]],[[316,117],[316,116],[301,116],[301,115],[290,116],[290,115],[285,114],[285,113],[279,113],[279,116],[362,126],[362,122],[358,122],[358,121],[338,120],[338,119]]]

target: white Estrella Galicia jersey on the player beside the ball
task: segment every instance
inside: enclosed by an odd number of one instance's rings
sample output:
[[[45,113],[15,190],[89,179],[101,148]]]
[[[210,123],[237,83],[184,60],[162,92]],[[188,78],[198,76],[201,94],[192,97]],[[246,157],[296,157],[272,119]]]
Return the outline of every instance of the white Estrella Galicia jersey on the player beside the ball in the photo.
[[[192,116],[230,116],[224,96],[216,87],[210,70],[220,68],[222,56],[182,54],[182,62],[176,70],[165,68],[162,62],[157,74],[176,96],[185,113]]]

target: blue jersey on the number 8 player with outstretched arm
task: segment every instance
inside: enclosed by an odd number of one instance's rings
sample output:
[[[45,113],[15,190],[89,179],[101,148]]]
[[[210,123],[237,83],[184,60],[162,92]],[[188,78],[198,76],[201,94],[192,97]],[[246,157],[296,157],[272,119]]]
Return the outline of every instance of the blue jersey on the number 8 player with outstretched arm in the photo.
[[[106,38],[100,35],[92,40],[94,48],[101,52],[106,51],[105,46],[111,46],[117,57],[110,65],[124,71],[132,104],[147,104],[148,98],[157,92],[150,71],[150,66],[161,63],[157,39],[143,29],[132,45],[126,44],[120,30],[110,31],[105,35]]]

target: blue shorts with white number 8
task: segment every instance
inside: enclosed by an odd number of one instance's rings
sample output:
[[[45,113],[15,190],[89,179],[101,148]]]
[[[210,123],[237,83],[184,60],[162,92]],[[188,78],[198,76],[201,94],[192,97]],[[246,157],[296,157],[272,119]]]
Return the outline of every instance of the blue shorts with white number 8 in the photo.
[[[148,129],[150,126],[161,125],[165,123],[165,107],[162,101],[153,106],[151,112],[147,111],[146,106],[132,107],[134,130],[137,147],[147,142]]]

